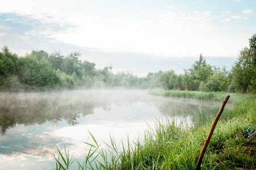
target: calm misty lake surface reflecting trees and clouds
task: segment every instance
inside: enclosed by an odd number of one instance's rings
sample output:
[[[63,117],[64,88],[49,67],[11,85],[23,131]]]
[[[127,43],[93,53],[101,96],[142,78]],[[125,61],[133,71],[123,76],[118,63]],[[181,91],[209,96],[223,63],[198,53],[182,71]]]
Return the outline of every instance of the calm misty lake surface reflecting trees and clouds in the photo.
[[[100,144],[135,141],[154,120],[194,124],[216,101],[148,95],[140,90],[0,92],[0,169],[53,169],[57,148],[84,160],[93,134]],[[215,113],[216,114],[216,113]],[[104,143],[103,143],[104,144]],[[104,145],[102,145],[104,147]]]

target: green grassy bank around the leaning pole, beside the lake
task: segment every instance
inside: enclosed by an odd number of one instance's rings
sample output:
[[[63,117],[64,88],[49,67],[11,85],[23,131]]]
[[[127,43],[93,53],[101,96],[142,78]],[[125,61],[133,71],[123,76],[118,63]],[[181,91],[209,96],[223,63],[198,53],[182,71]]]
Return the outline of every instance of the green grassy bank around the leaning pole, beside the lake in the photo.
[[[181,92],[180,97],[181,95],[189,96],[189,93],[197,97],[213,95],[211,100],[218,100],[221,95],[224,97],[226,95],[202,92],[196,94],[187,91],[168,92],[168,94],[178,92]],[[202,96],[197,99],[203,99]],[[233,96],[236,97],[233,99],[236,104],[234,108],[224,109],[204,155],[202,169],[256,168],[256,138],[249,142],[243,138],[242,134],[242,130],[247,129],[248,123],[256,128],[256,99],[239,94],[230,94],[230,99]],[[145,131],[138,141],[130,142],[127,139],[129,143],[127,147],[123,143],[115,143],[111,138],[111,145],[107,150],[102,150],[91,134],[94,143],[85,143],[89,147],[85,162],[75,161],[73,164],[77,164],[77,169],[195,169],[214,119],[208,115],[212,115],[212,112],[217,114],[218,109],[203,111],[200,115],[204,115],[210,121],[196,124],[192,128],[184,122],[177,125],[175,120],[167,120],[167,118],[156,120],[155,127]],[[200,117],[196,119],[200,121]],[[59,152],[59,158],[56,158],[56,169],[69,167],[73,160],[67,159],[67,156],[67,151]],[[100,159],[104,161],[98,163],[97,160]]]

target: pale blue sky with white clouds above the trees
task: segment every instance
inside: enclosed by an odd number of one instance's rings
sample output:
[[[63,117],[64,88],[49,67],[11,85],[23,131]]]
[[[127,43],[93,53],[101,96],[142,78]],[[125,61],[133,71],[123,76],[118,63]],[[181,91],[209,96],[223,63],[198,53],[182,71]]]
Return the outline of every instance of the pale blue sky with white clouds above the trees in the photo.
[[[254,0],[9,0],[0,6],[0,48],[64,55],[144,76],[199,58],[231,69],[256,33]]]

